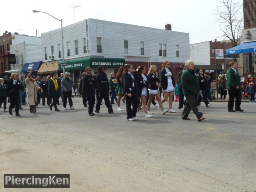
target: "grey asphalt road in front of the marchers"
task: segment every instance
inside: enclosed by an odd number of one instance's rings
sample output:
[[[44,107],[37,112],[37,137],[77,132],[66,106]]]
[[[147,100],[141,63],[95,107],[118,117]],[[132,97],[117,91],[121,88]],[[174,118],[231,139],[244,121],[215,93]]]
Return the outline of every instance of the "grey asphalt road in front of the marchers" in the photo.
[[[192,112],[182,120],[174,102],[174,114],[152,108],[153,118],[128,122],[124,104],[90,117],[81,98],[73,101],[73,111],[25,106],[20,117],[0,108],[1,192],[35,191],[3,188],[8,173],[70,174],[69,189],[39,192],[256,191],[256,103],[230,113],[215,102],[200,108],[206,120],[198,122]]]

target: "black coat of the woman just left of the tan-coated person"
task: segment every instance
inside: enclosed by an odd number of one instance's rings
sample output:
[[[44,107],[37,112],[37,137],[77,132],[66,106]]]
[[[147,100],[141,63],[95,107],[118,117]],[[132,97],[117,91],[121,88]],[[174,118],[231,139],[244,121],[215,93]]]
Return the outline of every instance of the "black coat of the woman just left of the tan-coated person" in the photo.
[[[6,83],[6,96],[10,98],[10,103],[19,103],[20,94],[19,90],[22,89],[21,83],[19,80],[14,84],[12,79],[8,80]]]

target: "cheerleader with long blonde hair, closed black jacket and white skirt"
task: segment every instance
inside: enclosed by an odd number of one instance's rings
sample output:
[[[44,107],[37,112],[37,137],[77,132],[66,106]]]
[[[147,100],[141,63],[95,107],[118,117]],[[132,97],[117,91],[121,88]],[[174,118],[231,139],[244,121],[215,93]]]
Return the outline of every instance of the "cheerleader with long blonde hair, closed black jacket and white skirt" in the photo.
[[[160,109],[162,110],[162,114],[165,114],[166,112],[168,112],[169,110],[164,110],[163,104],[161,102],[161,94],[160,91],[158,89],[158,86],[160,84],[160,79],[158,78],[158,74],[156,72],[157,68],[155,65],[151,65],[149,70],[148,70],[148,78],[149,78],[149,99],[148,99],[148,112],[150,112],[150,105],[151,102],[154,98],[154,96],[156,97],[156,100],[158,101],[158,107],[157,109],[160,111]]]

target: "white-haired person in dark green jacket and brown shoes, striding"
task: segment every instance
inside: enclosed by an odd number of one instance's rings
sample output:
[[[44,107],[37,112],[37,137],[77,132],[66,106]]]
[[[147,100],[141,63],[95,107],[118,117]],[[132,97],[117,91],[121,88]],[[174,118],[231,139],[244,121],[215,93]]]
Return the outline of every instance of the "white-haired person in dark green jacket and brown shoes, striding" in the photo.
[[[190,113],[190,110],[192,109],[197,117],[197,120],[200,122],[205,118],[202,117],[203,114],[198,111],[198,108],[196,106],[196,96],[198,96],[199,93],[199,84],[198,78],[194,72],[194,61],[187,60],[185,62],[185,66],[187,67],[187,70],[182,73],[180,81],[182,85],[182,91],[187,101],[182,112],[181,118],[183,120],[190,120],[190,118],[188,118],[188,115]]]

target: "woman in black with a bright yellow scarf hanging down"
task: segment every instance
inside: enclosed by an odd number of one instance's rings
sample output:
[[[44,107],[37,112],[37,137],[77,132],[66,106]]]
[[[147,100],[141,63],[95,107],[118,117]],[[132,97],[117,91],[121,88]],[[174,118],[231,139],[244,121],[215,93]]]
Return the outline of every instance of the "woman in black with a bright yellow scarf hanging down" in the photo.
[[[49,96],[52,98],[52,103],[49,105],[49,107],[50,107],[50,110],[52,110],[52,106],[54,106],[55,111],[60,111],[57,108],[59,85],[56,78],[58,78],[58,74],[52,73],[51,79],[49,80],[49,83],[48,83],[48,93],[49,93]]]

